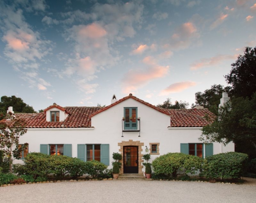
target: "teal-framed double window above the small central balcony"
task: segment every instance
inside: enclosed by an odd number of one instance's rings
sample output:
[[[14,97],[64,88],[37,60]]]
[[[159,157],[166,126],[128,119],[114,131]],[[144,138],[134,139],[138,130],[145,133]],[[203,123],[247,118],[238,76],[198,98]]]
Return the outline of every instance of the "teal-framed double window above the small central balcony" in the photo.
[[[137,130],[138,129],[138,108],[137,107],[125,107],[124,108],[124,129],[125,130]]]

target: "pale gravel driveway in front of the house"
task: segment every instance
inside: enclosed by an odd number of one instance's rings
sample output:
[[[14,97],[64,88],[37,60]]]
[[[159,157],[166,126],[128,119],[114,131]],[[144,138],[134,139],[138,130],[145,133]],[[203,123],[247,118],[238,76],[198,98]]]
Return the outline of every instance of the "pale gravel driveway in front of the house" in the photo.
[[[1,203],[256,202],[256,185],[101,180],[0,187]]]

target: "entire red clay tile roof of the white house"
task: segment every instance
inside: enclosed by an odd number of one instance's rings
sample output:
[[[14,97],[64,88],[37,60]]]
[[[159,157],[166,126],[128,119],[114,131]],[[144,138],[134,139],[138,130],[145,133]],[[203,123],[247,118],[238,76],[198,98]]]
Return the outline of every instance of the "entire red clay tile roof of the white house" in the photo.
[[[91,117],[98,113],[101,113],[112,106],[119,104],[129,98],[132,98],[144,105],[147,105],[156,111],[170,116],[169,127],[203,127],[213,122],[215,116],[207,108],[204,109],[165,109],[158,108],[150,103],[147,103],[131,94],[124,97],[113,104],[106,107],[61,107],[60,110],[64,110],[69,115],[65,121],[49,122],[46,121],[46,111],[51,109],[49,106],[42,113],[32,114],[15,114],[19,118],[24,118],[27,125],[26,128],[91,128]],[[57,105],[58,106],[58,105]],[[57,107],[54,106],[54,107]],[[51,108],[50,108],[51,107]],[[208,118],[207,118],[208,117]]]

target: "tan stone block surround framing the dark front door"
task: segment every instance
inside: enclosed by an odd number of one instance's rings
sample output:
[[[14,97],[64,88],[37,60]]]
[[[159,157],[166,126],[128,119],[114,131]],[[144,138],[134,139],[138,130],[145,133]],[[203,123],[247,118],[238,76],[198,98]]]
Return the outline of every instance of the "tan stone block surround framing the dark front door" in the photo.
[[[143,175],[143,165],[141,163],[143,163],[143,159],[142,159],[142,146],[144,146],[143,142],[140,141],[133,141],[133,140],[129,140],[129,141],[122,141],[118,143],[118,146],[120,146],[119,152],[122,155],[122,157],[124,157],[124,146],[138,146],[138,154],[139,154],[139,159],[138,159],[138,165],[139,165],[139,175]],[[120,168],[120,173],[119,174],[124,174],[124,166],[123,166],[123,158],[122,160],[120,160],[120,162],[122,162],[121,168]]]

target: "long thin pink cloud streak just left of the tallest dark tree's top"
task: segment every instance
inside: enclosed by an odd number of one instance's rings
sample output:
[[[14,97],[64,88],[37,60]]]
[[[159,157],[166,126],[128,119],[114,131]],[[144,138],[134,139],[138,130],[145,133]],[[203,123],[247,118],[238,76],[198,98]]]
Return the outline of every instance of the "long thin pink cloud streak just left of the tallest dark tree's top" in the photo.
[[[217,55],[211,58],[202,58],[200,61],[192,63],[190,70],[198,70],[205,67],[216,66],[224,60],[236,59],[237,55]]]

